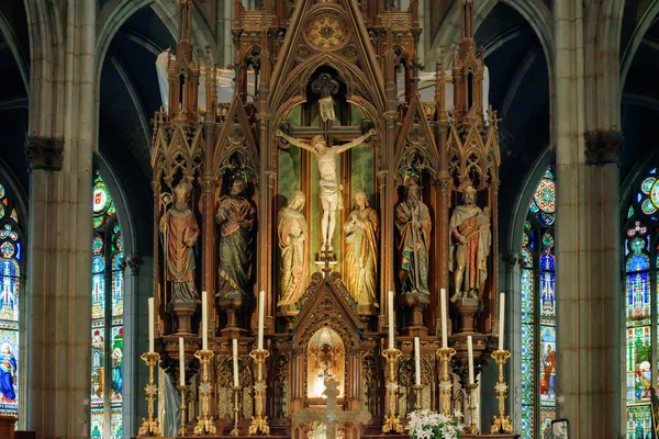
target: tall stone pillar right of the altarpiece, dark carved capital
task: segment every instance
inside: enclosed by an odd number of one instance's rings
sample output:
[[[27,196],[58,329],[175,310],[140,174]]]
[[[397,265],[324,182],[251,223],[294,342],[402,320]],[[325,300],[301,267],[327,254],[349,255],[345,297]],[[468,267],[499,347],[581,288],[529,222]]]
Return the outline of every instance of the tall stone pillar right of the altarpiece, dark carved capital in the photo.
[[[599,102],[619,78],[595,81],[593,63],[615,47],[589,35],[601,26],[585,19],[606,14],[604,8],[557,0],[554,9],[557,415],[569,418],[573,439],[623,436],[619,100]]]

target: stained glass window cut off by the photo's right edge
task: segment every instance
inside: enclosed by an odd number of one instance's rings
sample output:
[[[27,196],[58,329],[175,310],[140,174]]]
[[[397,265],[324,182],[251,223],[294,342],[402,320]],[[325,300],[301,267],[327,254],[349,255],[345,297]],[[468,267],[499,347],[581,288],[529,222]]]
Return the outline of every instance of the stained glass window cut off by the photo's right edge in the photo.
[[[657,245],[659,233],[659,181],[657,168],[636,183],[635,196],[623,229],[625,270],[625,372],[627,438],[651,437],[650,389],[657,385],[657,364],[652,362],[652,292],[657,289]],[[654,329],[655,328],[655,329]]]

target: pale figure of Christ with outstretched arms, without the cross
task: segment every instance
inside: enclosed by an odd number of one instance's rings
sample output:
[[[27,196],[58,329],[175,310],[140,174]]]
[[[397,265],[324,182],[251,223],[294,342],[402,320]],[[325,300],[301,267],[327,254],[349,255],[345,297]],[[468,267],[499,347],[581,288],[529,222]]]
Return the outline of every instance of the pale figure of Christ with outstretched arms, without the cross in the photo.
[[[302,142],[287,135],[280,130],[277,131],[278,137],[282,137],[291,145],[306,149],[316,156],[319,173],[321,175],[319,195],[323,206],[323,219],[321,223],[323,241],[321,246],[322,251],[331,252],[334,250],[332,248],[332,237],[334,236],[334,228],[336,227],[336,211],[343,207],[340,196],[340,191],[343,188],[340,184],[338,184],[336,177],[336,158],[340,153],[344,153],[357,145],[361,145],[375,134],[376,131],[370,130],[364,136],[357,137],[345,145],[338,145],[330,148],[327,147],[327,143],[323,136],[314,136],[311,139],[311,143],[308,144],[306,142]]]

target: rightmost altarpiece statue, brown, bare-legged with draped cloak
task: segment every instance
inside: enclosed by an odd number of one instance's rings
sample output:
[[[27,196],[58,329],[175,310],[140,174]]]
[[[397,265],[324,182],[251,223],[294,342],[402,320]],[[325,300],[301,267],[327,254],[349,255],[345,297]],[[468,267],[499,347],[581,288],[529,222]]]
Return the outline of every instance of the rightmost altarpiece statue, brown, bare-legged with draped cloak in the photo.
[[[448,268],[454,272],[455,293],[451,302],[460,297],[479,299],[488,278],[490,255],[490,212],[476,205],[476,189],[465,189],[465,202],[456,206],[448,225],[453,248],[448,254]]]

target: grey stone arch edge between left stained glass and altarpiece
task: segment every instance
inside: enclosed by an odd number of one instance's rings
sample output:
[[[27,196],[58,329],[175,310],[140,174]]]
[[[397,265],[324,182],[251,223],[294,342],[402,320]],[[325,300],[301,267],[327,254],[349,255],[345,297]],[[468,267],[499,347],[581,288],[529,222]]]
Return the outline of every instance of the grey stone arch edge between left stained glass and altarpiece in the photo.
[[[137,423],[143,416],[143,412],[145,412],[141,389],[146,384],[146,379],[141,373],[143,364],[139,361],[139,356],[144,352],[142,341],[147,333],[145,304],[152,291],[149,258],[142,255],[139,249],[148,247],[150,235],[137,233],[136,216],[131,209],[127,194],[130,188],[124,188],[120,183],[122,180],[108,160],[102,155],[94,155],[94,167],[103,178],[114,202],[124,243],[123,431],[134,434],[137,431]],[[143,238],[144,236],[147,238]],[[149,240],[149,243],[142,243],[141,240]]]

